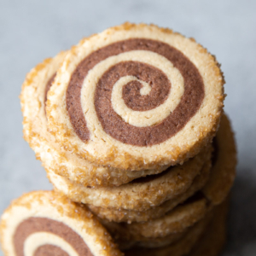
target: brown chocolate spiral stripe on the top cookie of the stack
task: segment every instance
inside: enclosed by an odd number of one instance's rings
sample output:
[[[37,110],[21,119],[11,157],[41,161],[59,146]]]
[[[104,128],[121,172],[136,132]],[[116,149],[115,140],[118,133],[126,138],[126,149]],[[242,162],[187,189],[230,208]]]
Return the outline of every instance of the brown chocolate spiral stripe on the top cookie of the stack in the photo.
[[[111,105],[113,84],[127,75],[135,76],[137,79],[150,84],[152,90],[148,96],[140,95],[139,90],[142,84],[138,81],[132,81],[123,87],[123,99],[127,107],[137,111],[145,111],[156,108],[166,101],[168,94],[172,93],[171,83],[159,69],[143,62],[122,61],[113,65],[96,84],[94,98],[97,118],[108,135],[121,143],[141,147],[163,143],[182,130],[200,108],[205,95],[203,79],[195,65],[179,50],[169,44],[145,38],[132,38],[109,44],[91,53],[79,63],[67,87],[67,113],[74,131],[84,143],[90,140],[90,131],[86,125],[80,102],[81,88],[85,77],[90,69],[99,62],[110,56],[131,50],[152,51],[171,61],[172,65],[183,76],[184,93],[177,108],[159,124],[148,127],[127,124],[123,119],[120,119]]]

